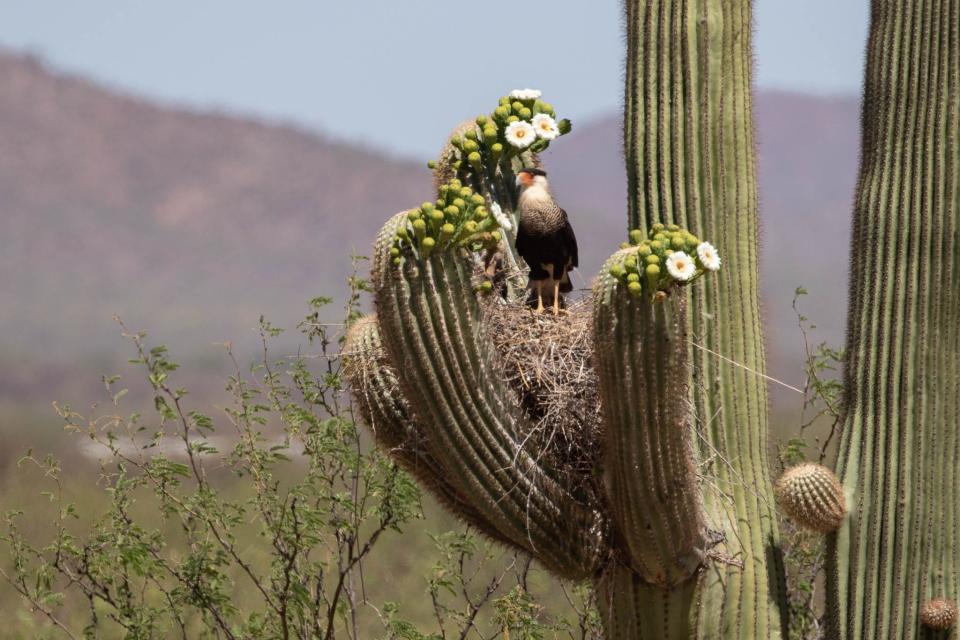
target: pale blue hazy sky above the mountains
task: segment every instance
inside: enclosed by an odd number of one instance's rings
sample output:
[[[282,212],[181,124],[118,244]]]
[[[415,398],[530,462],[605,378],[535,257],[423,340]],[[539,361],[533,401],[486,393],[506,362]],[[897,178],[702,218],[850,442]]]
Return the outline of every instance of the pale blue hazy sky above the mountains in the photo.
[[[615,109],[620,3],[4,0],[0,46],[172,104],[292,121],[427,157],[512,88]],[[758,0],[760,87],[859,92],[866,0]],[[0,87],[0,90],[3,90]]]

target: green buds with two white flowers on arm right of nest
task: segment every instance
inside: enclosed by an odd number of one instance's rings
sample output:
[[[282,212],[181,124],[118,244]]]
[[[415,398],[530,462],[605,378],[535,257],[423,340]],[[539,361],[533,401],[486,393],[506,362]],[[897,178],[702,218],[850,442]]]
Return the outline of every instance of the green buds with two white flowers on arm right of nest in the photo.
[[[720,268],[720,257],[709,242],[701,242],[686,229],[671,224],[654,224],[645,235],[630,232],[619,259],[609,265],[610,275],[635,297],[646,293],[651,300],[673,285],[693,282],[708,271]]]

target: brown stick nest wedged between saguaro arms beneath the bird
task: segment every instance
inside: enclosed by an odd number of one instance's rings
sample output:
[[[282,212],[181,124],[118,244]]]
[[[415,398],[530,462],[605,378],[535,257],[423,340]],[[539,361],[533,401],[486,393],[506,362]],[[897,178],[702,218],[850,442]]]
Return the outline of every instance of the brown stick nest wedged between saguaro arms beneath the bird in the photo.
[[[602,417],[593,368],[592,304],[572,302],[559,317],[523,300],[491,296],[484,324],[501,366],[533,424],[527,449],[553,469],[593,485]],[[585,487],[586,488],[586,487]]]

